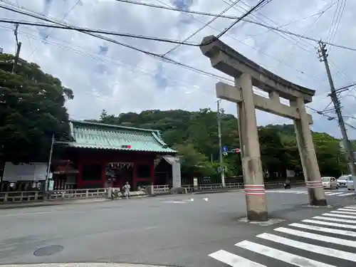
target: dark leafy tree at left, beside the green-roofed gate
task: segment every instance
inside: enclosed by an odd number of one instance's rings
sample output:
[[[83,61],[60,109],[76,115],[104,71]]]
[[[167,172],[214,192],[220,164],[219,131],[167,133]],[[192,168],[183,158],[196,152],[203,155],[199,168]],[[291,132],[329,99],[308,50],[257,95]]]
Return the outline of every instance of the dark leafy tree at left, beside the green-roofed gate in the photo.
[[[51,137],[68,136],[66,100],[73,91],[35,63],[0,54],[0,159],[46,161]],[[0,160],[1,161],[1,160]]]

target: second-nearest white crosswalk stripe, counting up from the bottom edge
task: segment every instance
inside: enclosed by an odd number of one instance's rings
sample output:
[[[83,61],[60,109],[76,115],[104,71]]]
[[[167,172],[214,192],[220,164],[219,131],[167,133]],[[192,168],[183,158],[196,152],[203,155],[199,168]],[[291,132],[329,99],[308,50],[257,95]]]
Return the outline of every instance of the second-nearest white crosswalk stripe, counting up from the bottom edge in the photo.
[[[245,248],[249,251],[253,251],[259,253],[264,256],[268,256],[270,258],[276,258],[279,261],[284,261],[286,263],[293,264],[294,266],[305,267],[305,266],[318,266],[318,267],[336,267],[330,265],[328,263],[322,263],[320,261],[314,261],[310,258],[305,258],[302,256],[298,256],[292,253],[288,253],[286,251],[280,251],[276,248],[270,248],[268,246],[263,246],[261,244],[257,244],[251,241],[242,241],[235,246],[239,246],[240,248]]]

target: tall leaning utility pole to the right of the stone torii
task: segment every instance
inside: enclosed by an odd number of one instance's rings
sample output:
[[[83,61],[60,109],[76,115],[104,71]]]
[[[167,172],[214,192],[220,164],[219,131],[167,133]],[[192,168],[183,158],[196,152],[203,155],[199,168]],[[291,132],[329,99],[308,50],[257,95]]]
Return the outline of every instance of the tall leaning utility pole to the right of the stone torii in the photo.
[[[342,142],[345,147],[345,155],[348,162],[350,174],[356,175],[355,159],[352,151],[352,145],[349,138],[347,137],[345,122],[341,113],[340,100],[337,95],[337,90],[335,90],[333,78],[331,77],[331,72],[328,63],[328,54],[326,53],[327,50],[325,49],[325,46],[326,46],[325,43],[323,43],[322,41],[319,42],[319,49],[318,49],[319,58],[320,58],[320,62],[324,62],[326,73],[328,74],[328,80],[330,83],[330,90],[331,90],[330,97],[335,107],[337,121],[339,122],[340,130],[342,134]]]

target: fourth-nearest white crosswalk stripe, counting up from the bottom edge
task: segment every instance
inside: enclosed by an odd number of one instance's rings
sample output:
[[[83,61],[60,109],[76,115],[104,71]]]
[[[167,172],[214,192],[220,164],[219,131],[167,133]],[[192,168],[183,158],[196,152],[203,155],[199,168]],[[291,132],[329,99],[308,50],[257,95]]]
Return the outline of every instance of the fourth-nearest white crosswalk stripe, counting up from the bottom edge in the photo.
[[[337,239],[336,237],[331,237],[331,236],[322,236],[320,234],[312,234],[308,233],[305,231],[298,231],[294,229],[289,229],[285,227],[278,227],[274,229],[274,231],[279,231],[285,234],[291,234],[293,236],[301,236],[305,237],[307,239],[315,239],[318,241],[323,241],[323,242],[328,242],[328,243],[333,243],[333,244],[338,244],[338,245],[343,245],[343,246],[352,246],[353,248],[356,248],[356,241],[351,241],[351,240],[346,240],[346,239]]]

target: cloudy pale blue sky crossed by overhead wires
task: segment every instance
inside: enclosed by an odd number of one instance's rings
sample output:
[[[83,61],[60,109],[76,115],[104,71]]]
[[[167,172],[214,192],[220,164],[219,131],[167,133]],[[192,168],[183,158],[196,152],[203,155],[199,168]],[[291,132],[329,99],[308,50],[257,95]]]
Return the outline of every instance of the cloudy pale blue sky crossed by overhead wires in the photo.
[[[256,0],[142,2],[212,14],[220,14],[231,6],[224,13],[229,16],[241,16],[257,3]],[[115,0],[0,0],[1,6],[36,12],[71,26],[174,40],[187,39],[191,43],[201,43],[204,36],[218,35],[234,22],[224,18],[210,21],[213,17]],[[271,0],[247,18],[301,36],[356,48],[355,10],[356,1],[350,0]],[[46,23],[1,8],[0,18]],[[201,54],[199,47],[121,36],[106,37],[160,55],[170,51],[167,58],[213,75],[163,62],[77,31],[19,26],[21,58],[37,63],[43,71],[60,78],[63,85],[73,90],[74,99],[66,103],[72,119],[98,118],[103,109],[115,115],[157,109],[216,110],[215,84],[219,78],[214,75],[231,77],[212,68],[209,58]],[[221,41],[276,75],[315,90],[310,108],[324,110],[330,104],[330,85],[324,63],[318,58],[317,42],[245,21],[236,23],[221,37]],[[0,48],[4,53],[15,53],[15,47],[14,24],[0,23]],[[327,48],[335,88],[354,83],[356,51]],[[356,127],[356,119],[352,118],[356,117],[356,87],[342,92],[340,98],[345,122]],[[327,109],[332,107],[330,105]],[[221,108],[236,115],[234,103],[223,100]],[[310,109],[308,112],[313,115],[312,130],[340,137],[336,120],[328,120],[328,117]],[[328,115],[335,117],[333,112]],[[292,123],[291,120],[261,111],[256,111],[256,117],[258,125]],[[347,133],[350,138],[356,139],[356,130],[348,127]]]

